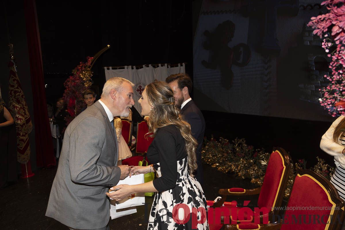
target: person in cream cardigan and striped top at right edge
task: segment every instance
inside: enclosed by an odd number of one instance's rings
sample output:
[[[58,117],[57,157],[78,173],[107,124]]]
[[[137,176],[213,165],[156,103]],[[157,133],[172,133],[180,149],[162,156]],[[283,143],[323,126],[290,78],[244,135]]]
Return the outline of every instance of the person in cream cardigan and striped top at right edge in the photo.
[[[322,136],[320,148],[334,156],[336,169],[331,183],[338,190],[339,196],[345,200],[345,116],[337,118]]]

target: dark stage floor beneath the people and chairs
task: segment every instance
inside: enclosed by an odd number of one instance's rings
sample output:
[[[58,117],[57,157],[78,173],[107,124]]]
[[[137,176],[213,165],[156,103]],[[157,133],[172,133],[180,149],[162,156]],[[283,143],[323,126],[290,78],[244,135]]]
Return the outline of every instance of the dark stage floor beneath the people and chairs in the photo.
[[[35,171],[35,176],[19,179],[18,183],[0,189],[0,229],[15,230],[68,230],[60,222],[46,217],[47,203],[57,167]],[[203,165],[205,186],[203,187],[207,200],[217,197],[218,189],[243,187],[255,188],[249,180],[238,180],[230,173],[224,174],[208,165]],[[248,200],[248,199],[247,199]],[[110,220],[110,229],[144,230],[147,229],[148,213],[153,197],[145,197],[145,206],[137,207],[137,213]],[[229,200],[230,201],[230,200]],[[240,201],[238,201],[240,203]],[[257,202],[254,197],[251,204]]]

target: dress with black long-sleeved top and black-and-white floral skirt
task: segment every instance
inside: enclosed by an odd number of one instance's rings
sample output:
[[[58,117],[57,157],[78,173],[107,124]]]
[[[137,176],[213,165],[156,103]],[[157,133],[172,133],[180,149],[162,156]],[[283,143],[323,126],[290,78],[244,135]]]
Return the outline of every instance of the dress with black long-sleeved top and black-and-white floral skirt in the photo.
[[[159,128],[147,151],[147,157],[158,174],[158,178],[153,181],[158,192],[152,203],[147,229],[209,229],[204,192],[200,183],[189,176],[185,140],[179,129],[173,125]],[[192,208],[205,210],[197,212],[197,217],[194,217],[198,221],[197,228],[193,228],[191,217],[187,216],[186,221],[183,221],[182,209],[179,210],[180,214],[176,210],[173,213],[177,204],[186,204],[190,210],[187,214]],[[175,220],[185,223],[175,222],[173,216],[179,217]]]

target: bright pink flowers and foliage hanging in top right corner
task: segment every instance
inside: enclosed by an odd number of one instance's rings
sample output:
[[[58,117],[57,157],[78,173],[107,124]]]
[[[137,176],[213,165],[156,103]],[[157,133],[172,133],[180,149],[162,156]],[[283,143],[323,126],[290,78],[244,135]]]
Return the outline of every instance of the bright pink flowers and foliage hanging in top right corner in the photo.
[[[321,106],[328,110],[333,117],[344,115],[345,111],[345,0],[327,0],[328,13],[312,17],[308,26],[315,29],[314,34],[324,37],[322,47],[332,57],[329,64],[331,76],[325,75],[331,83],[322,89],[323,97],[319,99]],[[331,32],[327,32],[331,29]]]

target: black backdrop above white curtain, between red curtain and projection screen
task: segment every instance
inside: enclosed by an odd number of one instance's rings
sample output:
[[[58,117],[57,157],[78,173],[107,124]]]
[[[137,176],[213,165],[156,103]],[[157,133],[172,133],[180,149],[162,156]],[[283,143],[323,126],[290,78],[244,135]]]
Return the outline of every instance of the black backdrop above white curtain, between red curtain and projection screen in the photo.
[[[37,12],[49,100],[63,92],[63,81],[80,61],[108,44],[92,69],[100,90],[105,66],[187,62],[191,72],[189,1],[98,1],[92,6],[40,1]]]

